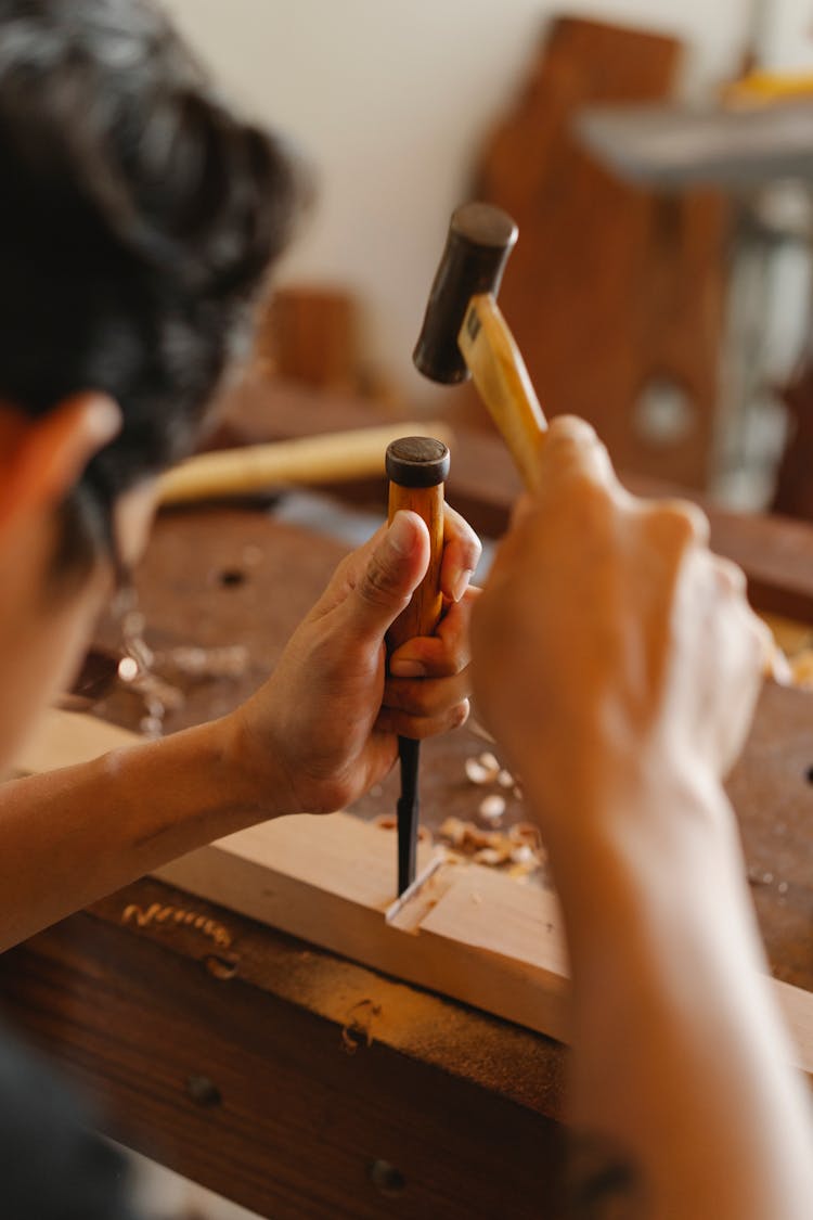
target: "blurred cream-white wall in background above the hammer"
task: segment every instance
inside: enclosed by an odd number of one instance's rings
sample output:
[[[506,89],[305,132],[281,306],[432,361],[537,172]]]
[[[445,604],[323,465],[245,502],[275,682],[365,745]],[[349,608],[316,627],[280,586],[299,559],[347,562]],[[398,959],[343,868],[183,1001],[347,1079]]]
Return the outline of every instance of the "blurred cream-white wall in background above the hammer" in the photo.
[[[753,0],[165,2],[227,92],[321,170],[318,210],[280,281],[355,292],[367,350],[425,400],[411,349],[449,214],[545,20],[567,10],[676,33],[696,95],[737,65]]]

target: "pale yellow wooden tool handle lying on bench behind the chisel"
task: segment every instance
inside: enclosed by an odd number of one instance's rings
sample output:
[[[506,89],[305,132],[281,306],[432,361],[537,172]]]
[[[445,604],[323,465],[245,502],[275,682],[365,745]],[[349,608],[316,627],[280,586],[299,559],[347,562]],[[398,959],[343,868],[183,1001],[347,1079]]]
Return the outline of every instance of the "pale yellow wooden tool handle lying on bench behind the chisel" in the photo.
[[[189,458],[158,479],[162,504],[247,495],[279,483],[334,483],[384,473],[383,454],[391,440],[427,423],[388,423],[382,427],[300,437],[273,444],[246,445]],[[442,423],[431,428],[444,439]]]

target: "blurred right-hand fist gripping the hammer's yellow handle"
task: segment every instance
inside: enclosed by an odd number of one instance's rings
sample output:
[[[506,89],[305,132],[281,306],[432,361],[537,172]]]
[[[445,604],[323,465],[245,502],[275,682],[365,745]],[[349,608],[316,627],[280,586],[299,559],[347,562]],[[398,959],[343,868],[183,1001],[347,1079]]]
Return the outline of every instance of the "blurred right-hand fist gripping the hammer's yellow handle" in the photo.
[[[641,783],[719,781],[768,649],[691,504],[618,483],[592,428],[551,423],[472,625],[478,710],[549,826]]]

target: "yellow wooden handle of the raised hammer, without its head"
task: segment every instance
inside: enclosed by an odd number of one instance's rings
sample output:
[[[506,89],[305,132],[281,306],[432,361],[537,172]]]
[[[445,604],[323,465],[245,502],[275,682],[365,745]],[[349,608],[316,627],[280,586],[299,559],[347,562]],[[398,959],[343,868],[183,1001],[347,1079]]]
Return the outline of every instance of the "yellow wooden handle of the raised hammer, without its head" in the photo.
[[[457,342],[523,483],[533,490],[547,423],[519,348],[490,293],[472,296]]]

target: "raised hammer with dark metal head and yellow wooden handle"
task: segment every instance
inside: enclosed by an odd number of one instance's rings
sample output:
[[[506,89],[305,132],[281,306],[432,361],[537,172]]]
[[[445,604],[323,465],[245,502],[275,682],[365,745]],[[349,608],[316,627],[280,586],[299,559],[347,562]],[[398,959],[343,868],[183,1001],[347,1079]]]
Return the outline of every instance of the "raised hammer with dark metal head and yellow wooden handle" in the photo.
[[[496,296],[517,226],[501,207],[463,204],[451,218],[413,360],[431,381],[469,375],[527,488],[547,428],[528,370]]]

